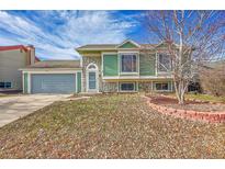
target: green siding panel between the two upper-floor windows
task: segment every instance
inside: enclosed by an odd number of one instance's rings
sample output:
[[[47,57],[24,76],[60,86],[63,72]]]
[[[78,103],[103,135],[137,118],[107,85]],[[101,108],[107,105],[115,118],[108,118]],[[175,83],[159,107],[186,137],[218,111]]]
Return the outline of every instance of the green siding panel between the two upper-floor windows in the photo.
[[[149,55],[139,55],[139,75],[140,76],[155,76],[156,74],[156,60],[155,54]]]

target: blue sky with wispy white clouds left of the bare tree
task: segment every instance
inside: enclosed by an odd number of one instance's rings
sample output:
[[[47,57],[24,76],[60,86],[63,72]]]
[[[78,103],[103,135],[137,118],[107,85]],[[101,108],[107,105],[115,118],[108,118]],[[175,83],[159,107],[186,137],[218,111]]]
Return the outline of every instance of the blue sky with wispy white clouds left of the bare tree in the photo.
[[[75,47],[146,43],[144,11],[0,11],[1,45],[32,44],[41,59],[79,58]]]

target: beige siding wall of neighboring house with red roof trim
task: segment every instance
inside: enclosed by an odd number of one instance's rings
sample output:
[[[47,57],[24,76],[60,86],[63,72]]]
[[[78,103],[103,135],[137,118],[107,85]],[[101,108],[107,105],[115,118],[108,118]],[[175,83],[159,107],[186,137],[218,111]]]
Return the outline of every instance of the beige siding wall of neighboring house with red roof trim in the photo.
[[[22,72],[27,63],[25,52],[20,49],[0,52],[0,81],[12,82],[12,88],[22,90]]]

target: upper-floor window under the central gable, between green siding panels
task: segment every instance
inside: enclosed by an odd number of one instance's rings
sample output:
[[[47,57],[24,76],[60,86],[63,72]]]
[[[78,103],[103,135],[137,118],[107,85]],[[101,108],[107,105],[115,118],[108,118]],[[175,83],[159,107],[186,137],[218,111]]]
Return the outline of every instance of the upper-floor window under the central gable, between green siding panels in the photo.
[[[121,71],[136,72],[137,71],[137,56],[132,54],[121,55]]]

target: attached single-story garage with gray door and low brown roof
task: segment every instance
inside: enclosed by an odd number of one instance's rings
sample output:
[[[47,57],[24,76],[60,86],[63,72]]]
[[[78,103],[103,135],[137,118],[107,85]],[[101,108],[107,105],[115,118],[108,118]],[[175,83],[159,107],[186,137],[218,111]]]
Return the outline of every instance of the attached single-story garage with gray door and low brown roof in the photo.
[[[82,68],[79,60],[45,60],[21,69],[23,93],[81,92]]]

